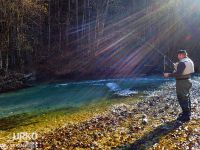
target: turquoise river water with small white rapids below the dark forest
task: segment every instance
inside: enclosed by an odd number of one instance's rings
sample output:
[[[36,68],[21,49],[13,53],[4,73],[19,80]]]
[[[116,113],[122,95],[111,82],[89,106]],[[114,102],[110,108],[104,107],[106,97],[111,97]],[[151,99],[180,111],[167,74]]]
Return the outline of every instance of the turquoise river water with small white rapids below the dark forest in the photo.
[[[1,94],[0,118],[20,113],[95,104],[101,100],[112,100],[114,96],[129,96],[154,90],[166,81],[171,80],[151,76],[38,85]]]

